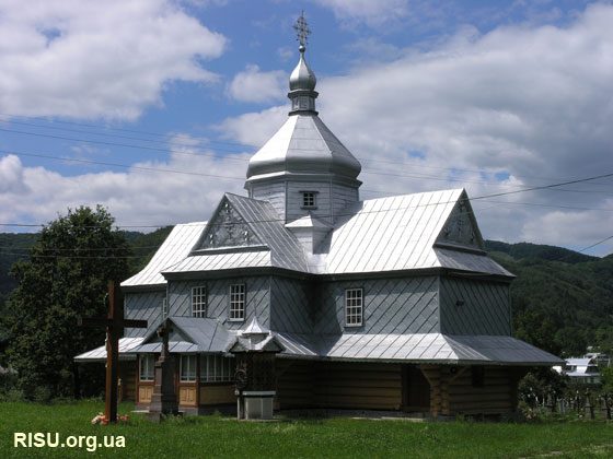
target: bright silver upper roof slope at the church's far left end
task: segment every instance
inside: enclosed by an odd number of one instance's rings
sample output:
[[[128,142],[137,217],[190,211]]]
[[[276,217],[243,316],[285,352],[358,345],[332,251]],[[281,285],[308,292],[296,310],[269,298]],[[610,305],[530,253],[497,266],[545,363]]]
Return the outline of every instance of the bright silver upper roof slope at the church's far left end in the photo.
[[[122,282],[122,286],[165,285],[162,270],[181,260],[188,254],[207,222],[194,222],[176,225],[160,246],[151,261],[138,274]]]

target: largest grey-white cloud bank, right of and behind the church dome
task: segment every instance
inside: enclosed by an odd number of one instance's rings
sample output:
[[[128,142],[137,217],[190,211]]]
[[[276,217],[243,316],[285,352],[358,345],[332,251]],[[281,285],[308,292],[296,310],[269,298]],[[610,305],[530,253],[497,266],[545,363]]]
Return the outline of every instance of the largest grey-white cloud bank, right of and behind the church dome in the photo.
[[[390,62],[320,79],[319,109],[362,162],[366,198],[384,196],[366,190],[461,186],[477,197],[612,172],[612,23],[613,7],[597,4],[565,27],[500,26],[483,35],[466,26],[427,51],[405,49]],[[286,110],[245,114],[220,128],[262,144]],[[496,173],[510,177],[497,183]],[[475,201],[485,236],[572,247],[610,236],[611,212],[580,209],[613,209],[613,180],[564,189]]]

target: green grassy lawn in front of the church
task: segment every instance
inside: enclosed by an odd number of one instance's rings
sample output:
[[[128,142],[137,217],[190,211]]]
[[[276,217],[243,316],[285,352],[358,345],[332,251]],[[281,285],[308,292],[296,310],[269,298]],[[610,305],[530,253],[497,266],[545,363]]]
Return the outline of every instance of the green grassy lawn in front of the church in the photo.
[[[613,458],[613,423],[545,421],[475,423],[375,420],[289,420],[245,423],[219,416],[151,424],[92,425],[101,401],[41,405],[0,403],[0,458]],[[128,413],[122,404],[119,413]],[[79,447],[14,447],[15,433],[82,436]],[[94,445],[125,439],[124,447]],[[89,438],[88,438],[89,437]],[[106,438],[105,438],[106,437]],[[94,439],[95,438],[95,439]],[[25,438],[27,445],[27,437]],[[33,439],[34,442],[34,439]],[[78,442],[78,438],[76,439]],[[95,448],[95,450],[93,450]],[[90,449],[88,451],[88,449]],[[553,454],[553,455],[552,455]]]

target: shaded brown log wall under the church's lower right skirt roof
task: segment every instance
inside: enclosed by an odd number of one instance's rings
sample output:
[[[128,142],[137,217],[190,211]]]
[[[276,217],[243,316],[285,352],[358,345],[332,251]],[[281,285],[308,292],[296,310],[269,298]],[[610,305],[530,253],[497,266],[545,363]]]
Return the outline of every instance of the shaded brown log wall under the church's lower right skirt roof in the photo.
[[[431,414],[489,415],[514,411],[517,372],[501,366],[482,368],[483,386],[475,387],[471,366],[416,367],[429,384]],[[406,386],[409,385],[410,381]],[[275,408],[416,409],[403,407],[402,365],[287,360],[277,361]]]

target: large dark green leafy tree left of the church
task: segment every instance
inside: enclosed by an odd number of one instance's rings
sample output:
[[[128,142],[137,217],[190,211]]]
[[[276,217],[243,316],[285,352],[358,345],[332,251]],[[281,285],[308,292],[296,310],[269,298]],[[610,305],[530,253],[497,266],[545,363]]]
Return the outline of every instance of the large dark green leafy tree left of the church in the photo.
[[[73,357],[101,345],[104,330],[79,328],[77,317],[103,316],[107,281],[128,274],[129,247],[114,222],[101,205],[69,209],[11,268],[19,287],[7,305],[7,356],[28,398],[81,395],[86,368]]]

